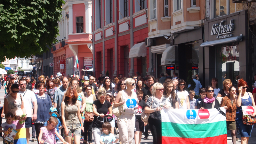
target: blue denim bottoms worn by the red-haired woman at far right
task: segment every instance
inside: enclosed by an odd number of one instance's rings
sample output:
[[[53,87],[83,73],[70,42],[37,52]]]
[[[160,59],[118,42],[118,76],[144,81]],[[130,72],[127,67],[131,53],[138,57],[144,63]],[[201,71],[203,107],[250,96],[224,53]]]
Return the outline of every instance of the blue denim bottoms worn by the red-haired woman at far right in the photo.
[[[236,127],[238,128],[241,137],[251,137],[253,125],[243,123],[243,120],[236,120]]]

